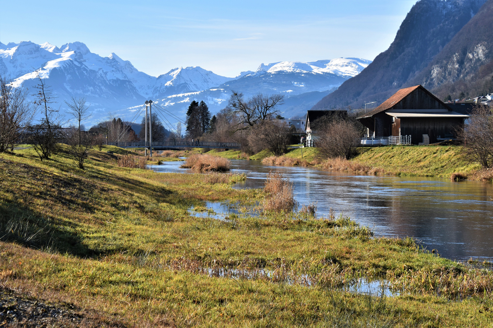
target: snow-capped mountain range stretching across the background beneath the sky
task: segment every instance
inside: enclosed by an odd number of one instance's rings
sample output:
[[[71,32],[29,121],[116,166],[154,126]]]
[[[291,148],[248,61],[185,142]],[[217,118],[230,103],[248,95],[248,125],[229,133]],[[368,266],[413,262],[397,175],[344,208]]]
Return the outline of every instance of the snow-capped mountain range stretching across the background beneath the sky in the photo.
[[[81,42],[60,47],[47,42],[41,45],[30,41],[0,42],[0,74],[13,79],[15,86],[27,88],[37,84],[37,75],[47,79],[62,109],[64,100],[70,96],[85,96],[93,111],[86,125],[106,119],[108,115],[131,119],[146,99],[153,99],[183,119],[192,100],[206,101],[214,114],[224,107],[232,89],[243,92],[246,97],[258,92],[285,94],[285,105],[281,108],[285,115],[302,114],[313,101],[358,74],[370,62],[338,58],[262,63],[256,71],[241,72],[234,78],[190,66],[154,77],[114,53],[108,57],[91,53]],[[304,95],[298,96],[301,94]]]

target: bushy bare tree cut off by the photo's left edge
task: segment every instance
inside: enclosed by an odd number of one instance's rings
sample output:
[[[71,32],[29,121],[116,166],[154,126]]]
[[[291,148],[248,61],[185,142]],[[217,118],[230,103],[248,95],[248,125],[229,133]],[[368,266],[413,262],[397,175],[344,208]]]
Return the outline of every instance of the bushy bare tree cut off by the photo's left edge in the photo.
[[[0,75],[0,152],[13,150],[24,128],[31,124],[34,110],[26,97],[25,89],[13,88]]]

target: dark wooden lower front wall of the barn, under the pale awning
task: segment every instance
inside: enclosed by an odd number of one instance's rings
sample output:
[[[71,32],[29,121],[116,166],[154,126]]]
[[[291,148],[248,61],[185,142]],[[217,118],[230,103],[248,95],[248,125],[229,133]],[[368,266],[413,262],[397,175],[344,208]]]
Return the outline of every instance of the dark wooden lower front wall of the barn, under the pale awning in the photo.
[[[400,121],[401,135],[411,135],[411,142],[418,144],[423,142],[423,134],[430,137],[430,143],[436,142],[436,138],[445,138],[446,134],[455,134],[454,130],[460,124],[459,118],[402,118]]]

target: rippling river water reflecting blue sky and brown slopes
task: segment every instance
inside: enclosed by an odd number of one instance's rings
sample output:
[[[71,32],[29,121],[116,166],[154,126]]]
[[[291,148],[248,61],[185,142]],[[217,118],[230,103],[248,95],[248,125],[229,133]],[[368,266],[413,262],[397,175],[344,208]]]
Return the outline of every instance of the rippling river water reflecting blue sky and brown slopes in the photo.
[[[300,207],[317,202],[317,214],[343,212],[376,236],[414,237],[450,259],[493,260],[493,184],[423,177],[369,176],[312,167],[285,167],[232,160],[247,173],[233,188],[260,188],[266,175],[282,173],[294,183]],[[151,165],[156,172],[192,173],[182,162]]]

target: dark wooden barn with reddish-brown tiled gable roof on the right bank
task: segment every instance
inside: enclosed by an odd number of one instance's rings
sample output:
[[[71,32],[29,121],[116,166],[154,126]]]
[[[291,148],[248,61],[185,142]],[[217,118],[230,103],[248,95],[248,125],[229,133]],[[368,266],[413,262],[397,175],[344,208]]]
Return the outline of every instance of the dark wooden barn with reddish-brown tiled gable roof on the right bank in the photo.
[[[368,137],[411,135],[411,143],[416,145],[453,139],[455,129],[468,117],[454,112],[419,85],[398,90],[380,106],[357,119],[368,128]]]

